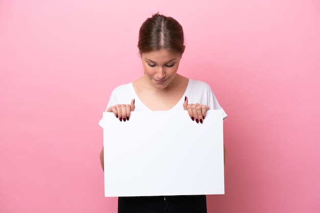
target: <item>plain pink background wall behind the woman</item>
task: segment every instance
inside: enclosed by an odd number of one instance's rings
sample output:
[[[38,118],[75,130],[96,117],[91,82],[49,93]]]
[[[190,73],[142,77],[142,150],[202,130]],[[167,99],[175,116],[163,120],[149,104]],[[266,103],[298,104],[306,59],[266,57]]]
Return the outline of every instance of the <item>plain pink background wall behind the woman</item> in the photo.
[[[320,2],[210,2],[0,1],[0,212],[117,211],[98,121],[143,74],[138,31],[158,11],[184,26],[179,72],[229,115],[208,211],[320,212]]]

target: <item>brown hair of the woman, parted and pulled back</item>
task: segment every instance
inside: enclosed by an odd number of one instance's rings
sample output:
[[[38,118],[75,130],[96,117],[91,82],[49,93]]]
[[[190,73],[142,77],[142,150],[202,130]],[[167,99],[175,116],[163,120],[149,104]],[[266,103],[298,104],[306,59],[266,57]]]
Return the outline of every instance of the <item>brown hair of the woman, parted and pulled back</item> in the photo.
[[[140,55],[143,52],[162,48],[182,55],[185,51],[182,26],[172,17],[159,13],[153,14],[141,25],[138,48]]]

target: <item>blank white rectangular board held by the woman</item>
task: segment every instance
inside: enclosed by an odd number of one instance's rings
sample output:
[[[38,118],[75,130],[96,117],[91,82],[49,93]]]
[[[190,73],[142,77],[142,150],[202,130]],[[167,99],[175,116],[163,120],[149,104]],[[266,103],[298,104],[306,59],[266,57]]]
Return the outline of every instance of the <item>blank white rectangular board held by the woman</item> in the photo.
[[[103,113],[105,197],[224,194],[223,121],[187,111]]]

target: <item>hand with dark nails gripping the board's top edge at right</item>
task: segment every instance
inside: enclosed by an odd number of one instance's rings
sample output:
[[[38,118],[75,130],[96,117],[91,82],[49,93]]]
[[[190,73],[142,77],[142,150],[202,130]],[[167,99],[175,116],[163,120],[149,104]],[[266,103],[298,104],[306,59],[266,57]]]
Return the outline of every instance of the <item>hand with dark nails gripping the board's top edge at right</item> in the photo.
[[[188,104],[188,97],[185,97],[184,110],[188,110],[189,116],[193,121],[202,123],[205,118],[205,113],[210,110],[209,106],[202,105],[200,103]]]

